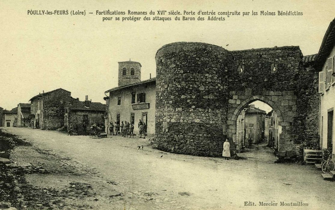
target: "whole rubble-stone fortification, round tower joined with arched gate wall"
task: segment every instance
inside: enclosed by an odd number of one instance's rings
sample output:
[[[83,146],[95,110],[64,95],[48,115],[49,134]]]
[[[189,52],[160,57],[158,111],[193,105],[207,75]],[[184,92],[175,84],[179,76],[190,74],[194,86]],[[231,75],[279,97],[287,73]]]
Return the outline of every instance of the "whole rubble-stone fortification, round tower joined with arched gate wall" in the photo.
[[[157,51],[156,65],[158,149],[220,155],[223,139],[232,141],[236,134],[239,113],[256,100],[278,115],[279,155],[294,156],[294,143],[317,136],[314,120],[307,122],[318,114],[316,73],[303,67],[299,47],[229,52],[205,43],[172,43]]]

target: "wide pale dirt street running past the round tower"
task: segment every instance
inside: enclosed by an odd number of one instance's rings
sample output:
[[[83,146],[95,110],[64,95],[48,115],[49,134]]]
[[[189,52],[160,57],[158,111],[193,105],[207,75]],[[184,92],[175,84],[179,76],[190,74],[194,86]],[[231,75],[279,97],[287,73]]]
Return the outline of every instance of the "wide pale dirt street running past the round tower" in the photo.
[[[90,139],[39,129],[3,130],[39,149],[96,170],[99,179],[117,183],[113,187],[123,199],[104,204],[102,195],[107,188],[106,182],[101,182],[96,191],[97,196],[101,192],[97,209],[110,209],[111,205],[115,209],[333,209],[335,205],[335,184],[323,180],[314,166],[274,163],[272,150],[264,147],[239,153],[246,160],[226,161],[162,152],[152,149],[148,139],[136,136]],[[145,145],[143,152],[136,150],[138,145]],[[30,182],[57,185],[57,177],[50,176],[35,176]],[[257,206],[245,206],[249,201]],[[278,206],[260,207],[259,202]],[[279,206],[280,202],[303,202],[309,206],[284,207]]]

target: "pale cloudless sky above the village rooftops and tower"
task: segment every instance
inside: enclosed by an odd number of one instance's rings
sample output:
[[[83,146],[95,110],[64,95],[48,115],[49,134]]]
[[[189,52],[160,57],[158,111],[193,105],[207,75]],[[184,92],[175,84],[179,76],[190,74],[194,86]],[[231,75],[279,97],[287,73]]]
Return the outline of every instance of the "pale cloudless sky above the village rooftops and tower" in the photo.
[[[327,6],[325,6],[327,5]],[[302,16],[233,16],[224,21],[102,21],[95,11],[274,11]],[[85,10],[86,15],[28,15],[28,10]],[[141,80],[156,75],[164,44],[205,42],[227,50],[295,45],[318,53],[333,1],[0,1],[0,107],[12,109],[43,90],[63,88],[73,98],[105,103],[118,83],[118,62],[140,62]],[[93,12],[93,14],[87,14]],[[131,15],[125,15],[131,16]],[[221,16],[221,15],[216,15]],[[142,16],[143,17],[143,16]],[[165,15],[164,17],[168,17]],[[170,16],[174,19],[175,16]],[[195,15],[197,17],[197,15]],[[226,46],[227,45],[227,46]]]

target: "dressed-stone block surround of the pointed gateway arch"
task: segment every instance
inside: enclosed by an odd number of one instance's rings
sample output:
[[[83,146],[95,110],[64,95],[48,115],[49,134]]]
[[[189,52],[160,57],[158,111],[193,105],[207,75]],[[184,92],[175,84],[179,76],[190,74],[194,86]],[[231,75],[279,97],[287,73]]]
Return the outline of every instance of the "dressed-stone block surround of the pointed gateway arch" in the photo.
[[[236,120],[242,109],[254,101],[262,101],[268,104],[277,114],[279,125],[282,127],[280,134],[278,153],[282,156],[293,156],[296,153],[294,140],[298,135],[292,133],[292,122],[297,117],[296,96],[293,91],[264,91],[268,95],[252,95],[252,89],[246,88],[245,91],[230,92],[231,99],[228,100],[228,115],[226,134],[232,139],[236,134]]]

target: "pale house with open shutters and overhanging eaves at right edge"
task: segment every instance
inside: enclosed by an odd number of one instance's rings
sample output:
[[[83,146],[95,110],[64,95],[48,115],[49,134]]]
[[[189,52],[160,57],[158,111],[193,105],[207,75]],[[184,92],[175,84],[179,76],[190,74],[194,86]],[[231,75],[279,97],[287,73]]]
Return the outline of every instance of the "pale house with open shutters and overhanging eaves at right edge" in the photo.
[[[323,38],[319,53],[315,59],[314,68],[319,71],[320,116],[319,136],[320,146],[335,153],[334,147],[334,107],[335,107],[335,19],[330,23]]]

